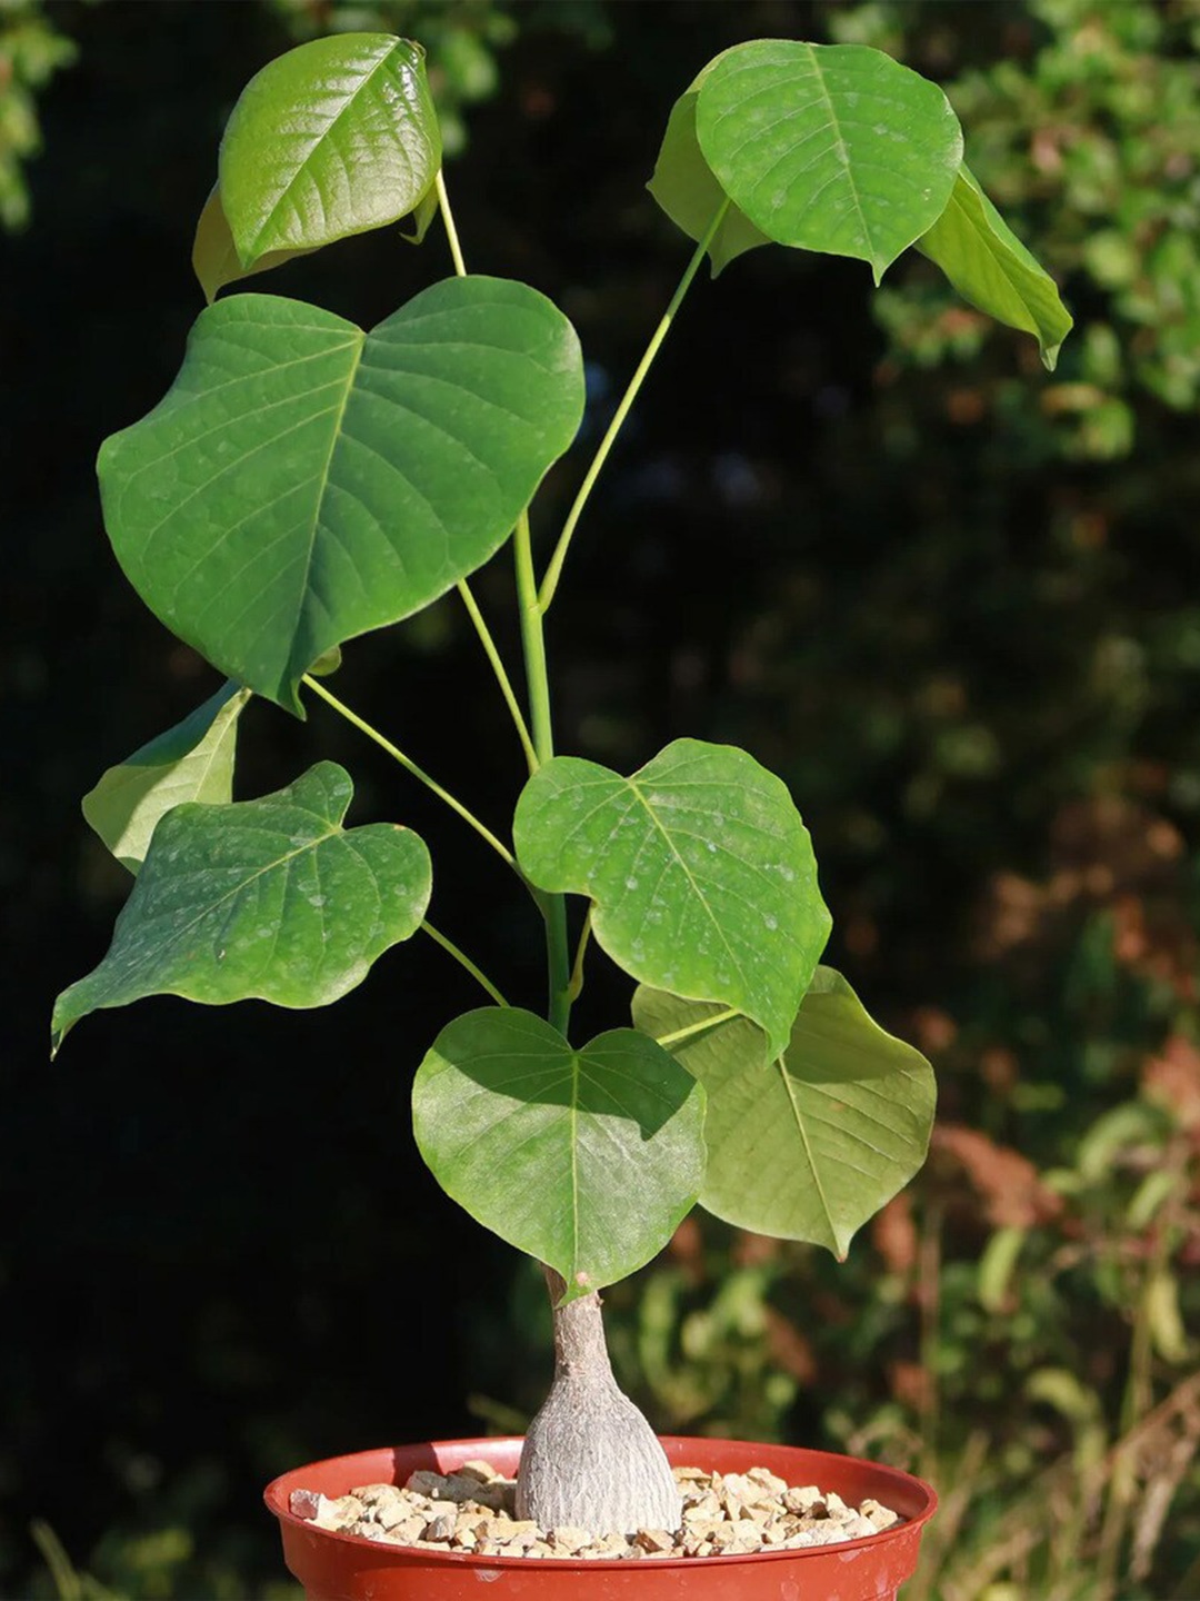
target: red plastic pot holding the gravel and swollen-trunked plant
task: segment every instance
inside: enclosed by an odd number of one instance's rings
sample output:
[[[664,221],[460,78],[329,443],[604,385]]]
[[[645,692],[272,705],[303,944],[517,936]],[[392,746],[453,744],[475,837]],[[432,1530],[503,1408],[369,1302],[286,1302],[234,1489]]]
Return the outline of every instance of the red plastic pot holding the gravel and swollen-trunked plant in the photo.
[[[917,1567],[922,1529],[938,1497],[922,1479],[827,1451],[755,1446],[739,1439],[683,1439],[662,1446],[672,1463],[746,1473],[770,1468],[789,1484],[819,1484],[845,1502],[872,1495],[907,1523],[864,1540],[755,1556],[584,1558],[467,1556],[379,1545],[314,1529],[293,1516],[291,1492],[344,1495],[357,1484],[403,1484],[414,1468],[453,1473],[483,1457],[512,1478],[520,1439],[453,1439],[331,1457],[267,1486],[283,1532],[283,1556],[307,1601],[894,1601]],[[480,1588],[488,1587],[488,1588]]]

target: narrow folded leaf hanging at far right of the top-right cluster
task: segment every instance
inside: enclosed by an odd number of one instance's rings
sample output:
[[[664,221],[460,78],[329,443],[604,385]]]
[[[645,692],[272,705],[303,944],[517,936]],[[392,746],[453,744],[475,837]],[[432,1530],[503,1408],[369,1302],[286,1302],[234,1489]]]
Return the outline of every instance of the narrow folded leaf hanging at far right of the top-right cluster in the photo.
[[[963,165],[949,205],[917,240],[963,299],[1010,328],[1032,333],[1053,373],[1074,327],[1050,274],[1026,250]]]

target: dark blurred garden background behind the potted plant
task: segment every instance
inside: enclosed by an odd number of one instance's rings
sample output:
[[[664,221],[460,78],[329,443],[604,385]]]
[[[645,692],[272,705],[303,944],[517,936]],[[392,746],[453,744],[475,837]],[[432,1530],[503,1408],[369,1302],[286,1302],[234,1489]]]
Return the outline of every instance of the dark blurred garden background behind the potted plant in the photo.
[[[518,1426],[547,1370],[536,1282],[411,1142],[411,1071],[477,1004],[427,943],[326,1012],[147,1001],[46,1060],[53,996],[99,961],[128,890],[78,796],[218,687],[117,572],[91,464],[179,365],[202,306],[192,229],[242,85],[326,27],[430,45],[466,144],[448,181],[467,261],[573,319],[592,437],[688,258],[643,184],[706,61],[760,35],[862,38],[952,86],[973,165],[1077,314],[1062,370],[920,261],[875,296],[862,264],[752,253],[693,290],[549,640],[562,749],[630,770],[677,735],[728,738],[789,781],[830,959],[934,1057],[942,1132],[840,1274],[690,1228],[614,1292],[613,1338],[669,1426],[874,1444],[950,1478],[966,1423],[990,1430],[1011,1473],[981,1526],[1013,1484],[1085,1460],[1072,1406],[1102,1454],[1187,1380],[1171,1306],[1187,1314],[1200,1260],[1198,16],[1141,0],[0,13],[77,50],[37,96],[30,219],[0,235],[0,1593],[53,1593],[29,1534],[43,1518],[112,1593],[267,1596],[269,1476]],[[370,325],[448,271],[437,229],[421,250],[389,229],[254,287]],[[581,471],[578,455],[555,469],[544,540]],[[515,661],[506,562],[475,588]],[[507,826],[520,751],[453,605],[349,645],[338,692]],[[352,821],[429,839],[434,919],[536,1005],[526,903],[331,714],[302,727],[253,704],[237,792],[323,756],[355,775]],[[598,959],[582,1023],[622,1009]],[[1149,1122],[1088,1167],[1088,1138],[1128,1106]],[[1171,1162],[1170,1217],[1131,1215],[1147,1166]],[[1061,1172],[1074,1190],[1046,1182]],[[1005,1228],[1032,1279],[981,1311],[978,1265]],[[1064,1370],[1083,1399],[1034,1380]],[[1195,1449],[1189,1426],[1200,1438],[1184,1420],[1163,1451]],[[1075,1601],[1184,1596],[1200,1497],[1176,1460],[1158,1566],[1125,1553],[1123,1577],[1096,1580],[1123,1588]],[[1138,1459],[1136,1491],[1157,1471]]]

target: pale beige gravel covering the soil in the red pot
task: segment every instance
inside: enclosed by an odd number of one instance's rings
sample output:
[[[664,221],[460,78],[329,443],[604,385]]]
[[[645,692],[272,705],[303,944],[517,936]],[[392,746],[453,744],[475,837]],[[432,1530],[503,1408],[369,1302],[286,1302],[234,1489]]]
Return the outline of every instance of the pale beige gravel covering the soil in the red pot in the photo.
[[[678,1529],[590,1534],[587,1529],[539,1529],[514,1516],[515,1481],[488,1462],[467,1462],[458,1473],[413,1473],[397,1484],[363,1484],[330,1500],[294,1491],[291,1510],[318,1529],[355,1534],[387,1545],[477,1556],[643,1559],[662,1556],[744,1556],[859,1540],[901,1523],[875,1500],[846,1507],[816,1484],[789,1486],[766,1468],[704,1473],[675,1468],[683,1495]]]

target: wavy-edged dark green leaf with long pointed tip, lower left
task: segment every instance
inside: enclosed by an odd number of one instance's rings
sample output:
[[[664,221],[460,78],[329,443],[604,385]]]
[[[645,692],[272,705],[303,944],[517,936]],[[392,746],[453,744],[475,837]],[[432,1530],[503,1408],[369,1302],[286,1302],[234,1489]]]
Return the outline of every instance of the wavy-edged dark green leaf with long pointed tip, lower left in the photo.
[[[362,983],[421,925],[430,868],[406,828],[342,829],[352,794],[318,762],[261,800],[168,812],[107,956],[58,997],[53,1049],[90,1012],[144,996],[314,1007]]]

